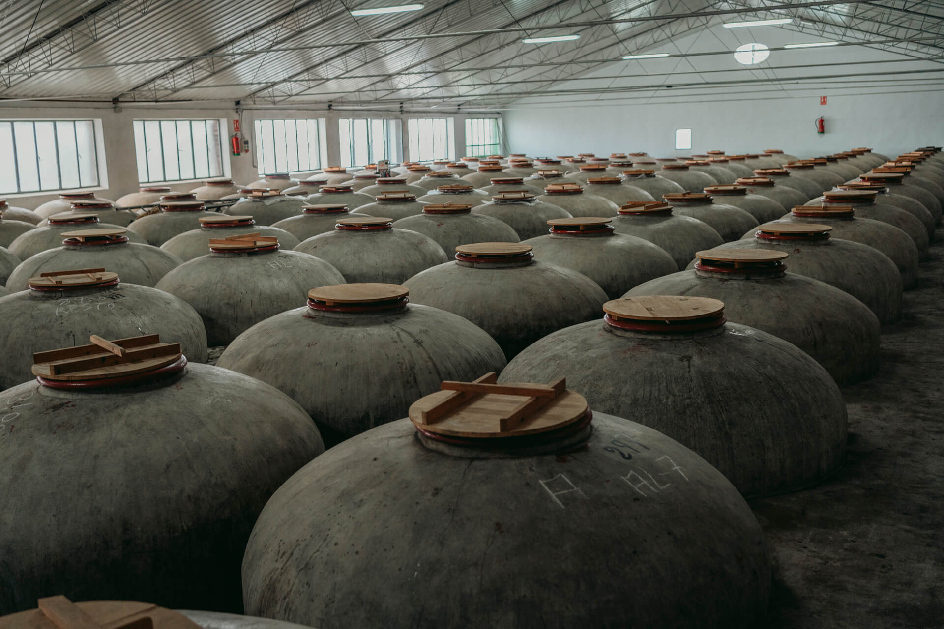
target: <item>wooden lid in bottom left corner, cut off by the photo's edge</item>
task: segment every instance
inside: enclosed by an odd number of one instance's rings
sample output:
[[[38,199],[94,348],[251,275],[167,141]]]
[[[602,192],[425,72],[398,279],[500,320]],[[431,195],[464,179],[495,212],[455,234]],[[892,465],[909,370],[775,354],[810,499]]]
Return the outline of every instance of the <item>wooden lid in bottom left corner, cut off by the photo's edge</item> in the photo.
[[[0,618],[2,629],[199,629],[177,611],[133,601],[72,603],[64,596],[40,599],[39,609]]]

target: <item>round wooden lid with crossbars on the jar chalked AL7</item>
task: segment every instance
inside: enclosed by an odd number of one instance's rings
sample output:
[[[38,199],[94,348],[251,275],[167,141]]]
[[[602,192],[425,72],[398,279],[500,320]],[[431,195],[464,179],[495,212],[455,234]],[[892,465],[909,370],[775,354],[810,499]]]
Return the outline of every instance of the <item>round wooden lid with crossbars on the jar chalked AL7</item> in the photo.
[[[410,406],[410,421],[426,433],[471,439],[534,435],[582,420],[589,406],[566,389],[564,378],[548,385],[497,384],[495,372],[472,382],[443,382],[439,391]]]

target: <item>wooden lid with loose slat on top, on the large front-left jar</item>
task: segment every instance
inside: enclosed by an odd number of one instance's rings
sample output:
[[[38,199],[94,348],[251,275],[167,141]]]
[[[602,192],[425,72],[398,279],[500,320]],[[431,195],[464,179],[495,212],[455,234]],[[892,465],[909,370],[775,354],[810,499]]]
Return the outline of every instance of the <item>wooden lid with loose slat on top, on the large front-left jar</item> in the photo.
[[[46,380],[100,380],[149,372],[176,362],[180,343],[162,343],[156,334],[76,345],[33,355],[33,374]]]

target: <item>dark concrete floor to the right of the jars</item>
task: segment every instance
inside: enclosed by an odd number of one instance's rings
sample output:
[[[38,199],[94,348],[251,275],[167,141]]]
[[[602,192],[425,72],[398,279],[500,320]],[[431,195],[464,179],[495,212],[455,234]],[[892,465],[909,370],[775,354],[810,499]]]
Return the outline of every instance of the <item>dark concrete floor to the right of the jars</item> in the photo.
[[[944,627],[944,241],[931,255],[881,372],[843,389],[845,466],[751,502],[774,560],[765,628]]]

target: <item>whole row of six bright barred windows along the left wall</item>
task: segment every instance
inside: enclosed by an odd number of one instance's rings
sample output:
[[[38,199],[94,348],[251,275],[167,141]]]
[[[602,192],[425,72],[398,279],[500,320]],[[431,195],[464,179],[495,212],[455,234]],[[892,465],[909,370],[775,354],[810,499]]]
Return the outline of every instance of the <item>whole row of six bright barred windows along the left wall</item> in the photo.
[[[223,121],[136,120],[133,123],[141,183],[181,181],[228,174]],[[100,185],[99,121],[0,121],[0,194],[94,188]],[[398,119],[339,121],[341,165],[403,160]],[[408,121],[409,155],[416,161],[454,160],[452,118]],[[260,174],[296,173],[323,167],[325,120],[257,120]],[[494,118],[465,121],[465,155],[500,150]]]

